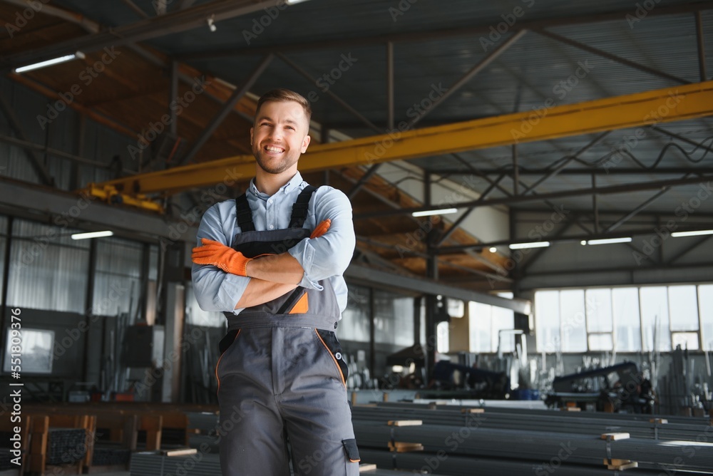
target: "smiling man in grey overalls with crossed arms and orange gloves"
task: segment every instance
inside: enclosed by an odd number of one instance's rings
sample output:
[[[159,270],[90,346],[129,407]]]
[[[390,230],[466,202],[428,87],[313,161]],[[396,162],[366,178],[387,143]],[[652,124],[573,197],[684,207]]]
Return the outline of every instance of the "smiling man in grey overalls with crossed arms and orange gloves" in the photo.
[[[354,252],[349,199],[297,172],[309,146],[309,103],[276,89],[250,130],[255,178],[213,205],[193,249],[201,309],[228,332],[215,368],[224,476],[359,474],[347,362],[334,330],[347,306]]]

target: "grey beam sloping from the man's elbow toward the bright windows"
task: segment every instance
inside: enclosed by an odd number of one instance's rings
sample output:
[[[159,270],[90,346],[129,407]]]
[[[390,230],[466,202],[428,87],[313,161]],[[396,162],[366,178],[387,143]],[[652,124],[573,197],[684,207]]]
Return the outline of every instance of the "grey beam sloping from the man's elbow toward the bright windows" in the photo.
[[[478,291],[448,286],[438,281],[432,281],[431,279],[401,276],[400,274],[387,273],[380,271],[379,269],[371,269],[354,264],[347,268],[347,271],[344,272],[344,277],[379,287],[386,286],[389,288],[404,289],[409,291],[409,293],[413,293],[415,291],[429,295],[440,294],[441,296],[453,299],[476,301],[483,304],[490,304],[491,306],[512,309],[513,311],[521,314],[530,314],[530,301],[528,300],[505,299]]]

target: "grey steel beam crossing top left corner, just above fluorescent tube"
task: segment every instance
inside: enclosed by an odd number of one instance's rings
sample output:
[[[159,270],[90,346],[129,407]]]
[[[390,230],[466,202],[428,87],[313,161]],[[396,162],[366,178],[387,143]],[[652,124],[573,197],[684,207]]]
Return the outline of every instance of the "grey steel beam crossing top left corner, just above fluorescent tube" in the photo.
[[[21,51],[0,59],[0,71],[7,73],[11,68],[37,63],[66,54],[82,51],[91,53],[102,48],[123,46],[138,41],[159,38],[171,33],[180,33],[205,26],[212,18],[221,21],[236,16],[261,11],[268,6],[275,6],[275,0],[214,0],[188,9],[173,11],[169,14],[143,19],[136,23],[117,26],[106,31],[98,31],[80,38],[59,41],[43,48]]]

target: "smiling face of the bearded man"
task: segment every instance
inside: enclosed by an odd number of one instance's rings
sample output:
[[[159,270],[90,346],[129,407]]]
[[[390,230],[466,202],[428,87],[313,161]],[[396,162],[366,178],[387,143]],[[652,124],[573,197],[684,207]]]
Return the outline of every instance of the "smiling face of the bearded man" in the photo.
[[[309,145],[309,124],[304,109],[294,101],[268,101],[250,129],[252,155],[257,165],[270,174],[280,174],[294,168],[299,155]]]

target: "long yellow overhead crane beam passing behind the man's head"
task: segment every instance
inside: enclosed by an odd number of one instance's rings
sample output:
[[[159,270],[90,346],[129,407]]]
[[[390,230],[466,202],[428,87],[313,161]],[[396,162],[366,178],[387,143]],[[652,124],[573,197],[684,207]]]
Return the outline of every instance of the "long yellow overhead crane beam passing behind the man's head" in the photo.
[[[713,115],[713,81],[557,105],[553,98],[541,108],[492,118],[468,120],[408,130],[408,123],[384,135],[313,145],[299,160],[299,170],[316,171],[428,155],[491,148],[636,128],[655,123]],[[170,195],[194,187],[231,185],[255,175],[251,155],[227,157],[169,170],[134,175],[103,184],[96,189],[116,190],[120,195],[161,192]]]

